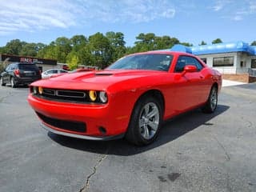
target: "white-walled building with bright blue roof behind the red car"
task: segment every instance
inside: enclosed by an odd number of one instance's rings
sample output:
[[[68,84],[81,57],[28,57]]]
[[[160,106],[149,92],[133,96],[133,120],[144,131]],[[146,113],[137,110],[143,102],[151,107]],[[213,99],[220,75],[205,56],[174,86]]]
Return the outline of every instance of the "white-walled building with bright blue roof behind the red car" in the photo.
[[[222,74],[243,74],[256,70],[256,46],[246,42],[227,42],[204,46],[175,45],[170,50],[197,55]]]

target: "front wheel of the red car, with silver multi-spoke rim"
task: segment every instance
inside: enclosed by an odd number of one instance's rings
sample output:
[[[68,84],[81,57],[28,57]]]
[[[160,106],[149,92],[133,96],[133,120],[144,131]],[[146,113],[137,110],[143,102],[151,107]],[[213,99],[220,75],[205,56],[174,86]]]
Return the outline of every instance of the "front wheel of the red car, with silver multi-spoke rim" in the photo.
[[[137,146],[154,142],[162,126],[162,106],[154,97],[142,97],[134,106],[126,140]]]

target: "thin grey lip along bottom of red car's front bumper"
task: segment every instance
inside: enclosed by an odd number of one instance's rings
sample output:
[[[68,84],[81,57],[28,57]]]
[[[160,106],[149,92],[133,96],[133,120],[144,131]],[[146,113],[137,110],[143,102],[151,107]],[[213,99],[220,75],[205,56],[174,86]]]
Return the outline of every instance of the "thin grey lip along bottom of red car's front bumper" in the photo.
[[[70,133],[59,131],[59,130],[54,130],[54,129],[50,128],[49,126],[46,126],[42,122],[41,122],[41,126],[45,130],[48,130],[48,131],[50,131],[54,134],[61,134],[61,135],[68,136],[68,137],[71,137],[71,138],[83,138],[83,139],[94,140],[94,141],[109,141],[109,140],[114,140],[114,139],[118,139],[118,138],[123,138],[125,136],[125,134],[118,134],[118,135],[106,136],[106,137],[92,137],[92,136],[87,136],[87,135],[70,134]]]

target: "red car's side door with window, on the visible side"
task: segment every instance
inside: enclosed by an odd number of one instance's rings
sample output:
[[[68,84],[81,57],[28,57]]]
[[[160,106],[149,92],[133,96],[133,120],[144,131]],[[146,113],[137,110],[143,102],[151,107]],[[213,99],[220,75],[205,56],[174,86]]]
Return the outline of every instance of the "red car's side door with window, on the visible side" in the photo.
[[[197,71],[183,74],[185,66],[196,66]],[[194,57],[180,55],[176,63],[174,73],[179,74],[176,79],[176,102],[177,110],[184,111],[202,103],[202,95],[205,94],[204,76],[201,73],[204,66]]]

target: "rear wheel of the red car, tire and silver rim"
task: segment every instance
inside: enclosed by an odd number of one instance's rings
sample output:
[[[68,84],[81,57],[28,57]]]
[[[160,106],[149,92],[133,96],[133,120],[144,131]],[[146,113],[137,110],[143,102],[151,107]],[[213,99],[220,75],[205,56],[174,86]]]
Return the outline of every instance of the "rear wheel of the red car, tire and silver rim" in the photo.
[[[216,110],[217,106],[218,106],[218,88],[217,86],[212,86],[206,105],[202,108],[202,111],[204,113],[211,114],[211,113],[214,113],[214,110]]]

